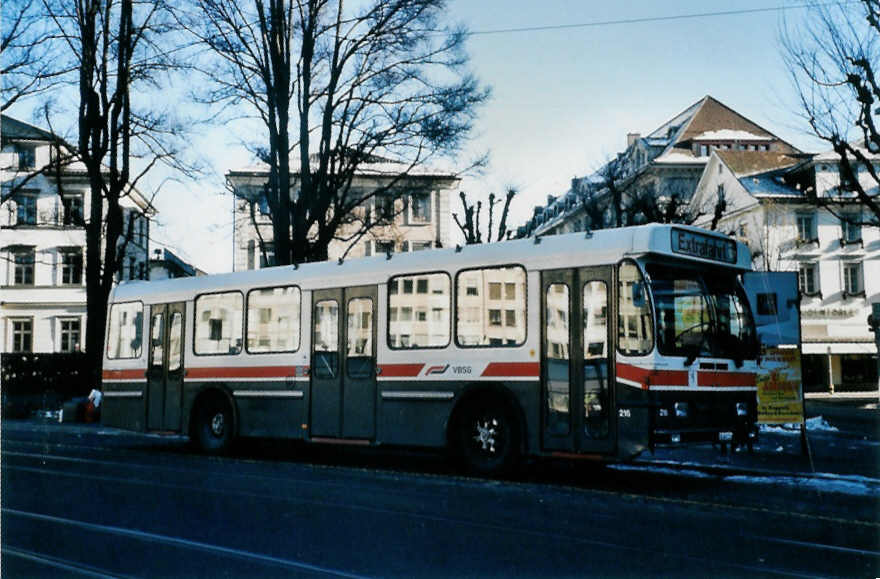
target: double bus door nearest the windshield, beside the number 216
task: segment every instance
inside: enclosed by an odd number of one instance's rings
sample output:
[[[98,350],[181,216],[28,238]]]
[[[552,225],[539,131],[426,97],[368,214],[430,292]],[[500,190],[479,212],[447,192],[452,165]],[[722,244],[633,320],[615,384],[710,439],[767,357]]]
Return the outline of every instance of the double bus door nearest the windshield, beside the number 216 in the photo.
[[[612,267],[545,271],[541,278],[543,445],[613,452],[616,441]]]

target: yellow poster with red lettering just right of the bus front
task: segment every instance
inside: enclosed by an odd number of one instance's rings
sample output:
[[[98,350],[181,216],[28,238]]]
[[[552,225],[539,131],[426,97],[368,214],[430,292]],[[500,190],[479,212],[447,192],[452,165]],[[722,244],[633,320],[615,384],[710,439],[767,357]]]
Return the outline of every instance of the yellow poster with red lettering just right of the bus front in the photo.
[[[801,353],[797,348],[766,347],[758,368],[758,422],[802,424]]]

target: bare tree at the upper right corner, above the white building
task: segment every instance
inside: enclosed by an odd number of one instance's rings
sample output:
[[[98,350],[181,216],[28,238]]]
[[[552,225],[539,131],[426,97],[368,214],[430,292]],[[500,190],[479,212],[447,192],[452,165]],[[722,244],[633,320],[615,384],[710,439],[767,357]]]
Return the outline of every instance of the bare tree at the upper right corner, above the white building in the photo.
[[[840,186],[813,201],[833,211],[835,204],[854,194],[873,215],[863,224],[876,225],[880,0],[817,3],[805,22],[788,24],[781,44],[803,118],[840,157]],[[866,177],[860,179],[860,174]]]

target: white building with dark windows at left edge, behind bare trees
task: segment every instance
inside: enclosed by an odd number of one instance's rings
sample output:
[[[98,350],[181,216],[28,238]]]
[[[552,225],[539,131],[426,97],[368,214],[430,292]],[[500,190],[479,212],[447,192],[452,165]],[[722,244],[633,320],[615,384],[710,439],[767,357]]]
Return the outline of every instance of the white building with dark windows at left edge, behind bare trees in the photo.
[[[76,351],[86,318],[85,167],[36,174],[49,165],[57,139],[6,115],[0,130],[0,352]],[[137,191],[122,203],[134,238],[118,279],[146,279],[154,210]]]

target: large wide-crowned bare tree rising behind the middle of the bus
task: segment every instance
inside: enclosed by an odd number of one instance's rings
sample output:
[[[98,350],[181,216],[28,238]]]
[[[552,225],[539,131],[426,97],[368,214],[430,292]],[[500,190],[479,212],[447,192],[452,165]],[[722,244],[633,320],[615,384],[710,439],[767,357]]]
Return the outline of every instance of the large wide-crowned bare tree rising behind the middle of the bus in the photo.
[[[191,6],[180,20],[213,54],[200,65],[211,81],[201,97],[247,103],[266,127],[257,152],[279,264],[326,259],[345,224],[356,227],[343,241],[362,236],[375,223],[358,208],[417,186],[417,168],[458,151],[488,98],[465,70],[465,32],[443,24],[445,0]],[[381,185],[352,187],[365,166]]]

